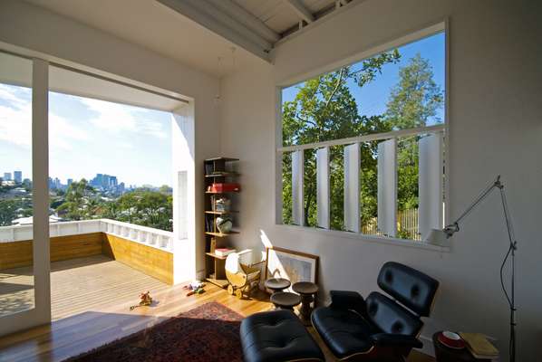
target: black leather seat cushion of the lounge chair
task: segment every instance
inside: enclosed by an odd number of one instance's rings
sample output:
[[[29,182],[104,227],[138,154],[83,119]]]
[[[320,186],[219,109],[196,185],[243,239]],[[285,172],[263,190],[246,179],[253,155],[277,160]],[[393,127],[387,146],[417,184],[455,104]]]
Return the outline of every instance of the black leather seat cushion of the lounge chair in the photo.
[[[321,307],[311,315],[313,326],[335,357],[344,358],[371,349],[373,333],[380,332],[352,310]]]

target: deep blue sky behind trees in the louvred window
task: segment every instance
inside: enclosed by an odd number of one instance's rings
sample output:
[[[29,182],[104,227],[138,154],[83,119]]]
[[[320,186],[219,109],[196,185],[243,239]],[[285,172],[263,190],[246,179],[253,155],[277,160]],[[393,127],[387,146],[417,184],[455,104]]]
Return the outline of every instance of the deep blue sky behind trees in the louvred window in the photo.
[[[417,42],[403,45],[399,48],[401,53],[401,62],[397,64],[386,64],[382,68],[382,74],[363,88],[358,87],[352,80],[348,82],[349,88],[355,98],[360,114],[367,116],[379,115],[386,110],[386,103],[389,100],[390,90],[399,81],[399,70],[401,67],[408,64],[409,60],[418,52],[421,57],[429,60],[434,81],[440,85],[442,90],[445,89],[445,38],[444,33],[437,33],[427,38],[423,38]],[[355,64],[353,65],[355,68]],[[300,83],[300,84],[303,84]],[[282,100],[294,100],[299,84],[288,87],[282,91]],[[444,120],[444,109],[442,108],[437,116],[440,120]],[[432,124],[434,122],[429,122]]]

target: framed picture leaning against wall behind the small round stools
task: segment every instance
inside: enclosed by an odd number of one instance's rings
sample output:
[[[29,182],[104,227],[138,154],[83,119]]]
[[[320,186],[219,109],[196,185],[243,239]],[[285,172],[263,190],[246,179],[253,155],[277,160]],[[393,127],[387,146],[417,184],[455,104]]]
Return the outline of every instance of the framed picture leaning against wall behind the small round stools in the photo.
[[[284,278],[292,284],[297,281],[318,283],[318,256],[275,246],[266,248],[266,254],[266,279]]]

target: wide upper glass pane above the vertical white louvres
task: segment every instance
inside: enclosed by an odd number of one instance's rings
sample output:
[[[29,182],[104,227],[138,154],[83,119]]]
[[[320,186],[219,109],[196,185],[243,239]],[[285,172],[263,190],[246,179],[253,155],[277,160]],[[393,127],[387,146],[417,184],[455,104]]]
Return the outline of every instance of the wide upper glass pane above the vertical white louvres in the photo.
[[[445,34],[282,90],[284,146],[443,123]]]

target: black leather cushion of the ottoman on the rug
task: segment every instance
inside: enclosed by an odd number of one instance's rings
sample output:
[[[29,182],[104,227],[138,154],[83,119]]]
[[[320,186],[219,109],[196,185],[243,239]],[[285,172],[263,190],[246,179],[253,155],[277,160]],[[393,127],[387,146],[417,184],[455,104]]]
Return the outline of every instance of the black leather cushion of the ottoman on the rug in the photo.
[[[324,361],[315,339],[291,310],[253,314],[241,322],[240,334],[245,362]]]

